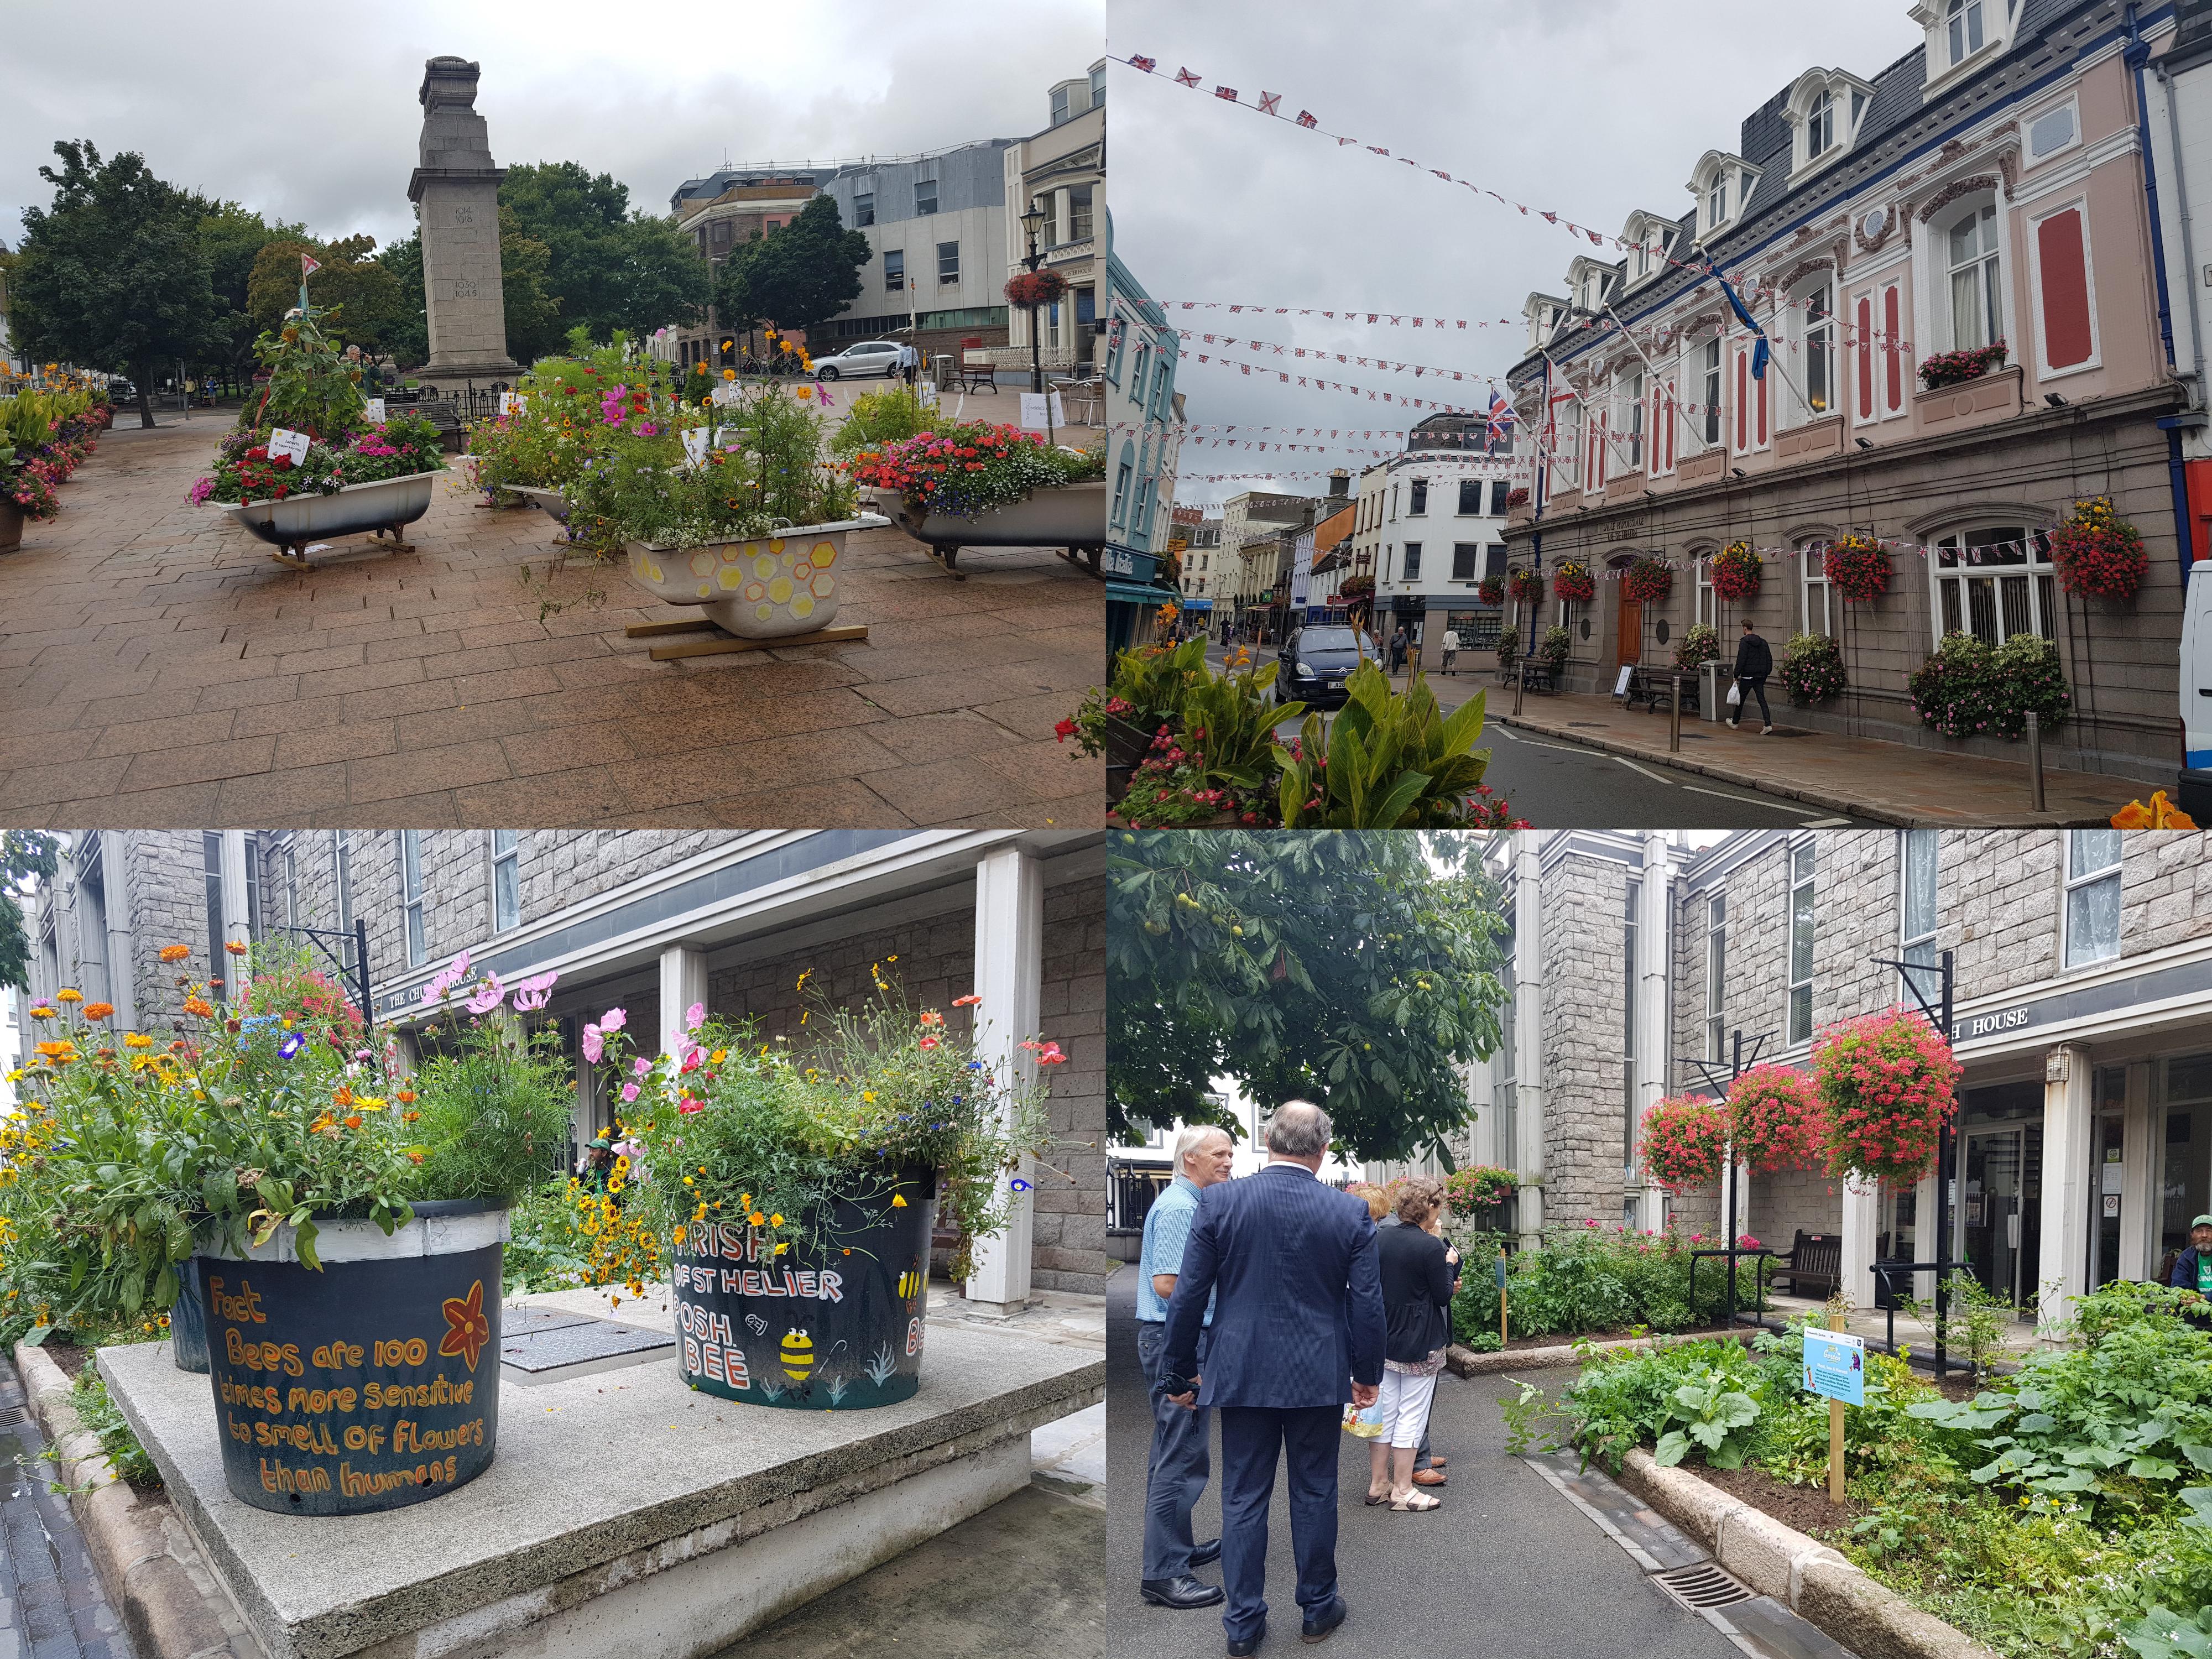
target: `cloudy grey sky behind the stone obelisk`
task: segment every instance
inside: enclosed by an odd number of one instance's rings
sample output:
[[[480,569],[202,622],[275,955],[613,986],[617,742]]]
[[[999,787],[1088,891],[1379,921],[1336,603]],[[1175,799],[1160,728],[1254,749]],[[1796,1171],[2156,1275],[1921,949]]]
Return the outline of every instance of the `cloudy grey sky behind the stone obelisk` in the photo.
[[[723,161],[891,155],[1026,137],[1097,62],[1104,0],[478,0],[239,4],[4,0],[0,241],[55,139],[316,234],[407,237],[422,60],[484,66],[500,164],[582,161],[668,210]]]

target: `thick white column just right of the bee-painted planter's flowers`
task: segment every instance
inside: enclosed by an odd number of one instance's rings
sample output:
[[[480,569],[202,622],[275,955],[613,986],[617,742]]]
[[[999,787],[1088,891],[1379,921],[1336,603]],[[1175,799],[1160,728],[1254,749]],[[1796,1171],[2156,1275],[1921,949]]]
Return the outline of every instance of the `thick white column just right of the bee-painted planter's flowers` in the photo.
[[[1037,1075],[1022,1048],[1037,1035],[1044,987],[1044,880],[1037,860],[1020,847],[998,847],[975,865],[975,1048],[1009,1086]],[[1024,1157],[1024,1181],[1035,1164]],[[1013,1314],[1029,1303],[1031,1194],[1018,1192],[1006,1230],[975,1241],[969,1303],[984,1314]]]

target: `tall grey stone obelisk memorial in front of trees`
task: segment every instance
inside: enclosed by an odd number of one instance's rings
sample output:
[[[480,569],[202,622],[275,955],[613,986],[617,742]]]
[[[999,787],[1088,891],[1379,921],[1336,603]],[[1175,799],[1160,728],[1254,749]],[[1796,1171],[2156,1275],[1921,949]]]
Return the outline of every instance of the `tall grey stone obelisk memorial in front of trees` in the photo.
[[[500,292],[500,179],[491,137],[476,113],[478,66],[465,58],[422,64],[422,164],[407,199],[422,217],[422,299],[429,307],[425,385],[513,383]]]

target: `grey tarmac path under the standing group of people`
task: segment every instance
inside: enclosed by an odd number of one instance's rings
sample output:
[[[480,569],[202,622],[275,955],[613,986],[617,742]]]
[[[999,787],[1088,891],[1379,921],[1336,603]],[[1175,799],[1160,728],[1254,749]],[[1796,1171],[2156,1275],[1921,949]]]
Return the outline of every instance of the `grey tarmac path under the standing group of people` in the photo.
[[[1199,1659],[1223,1650],[1221,1608],[1170,1613],[1139,1599],[1144,1462],[1150,1442],[1137,1369],[1135,1267],[1106,1287],[1106,1652],[1115,1659]],[[1546,1385],[1566,1371],[1542,1374]],[[1734,1644],[1644,1579],[1635,1562],[1566,1498],[1504,1451],[1504,1378],[1442,1376],[1431,1447],[1451,1460],[1444,1506],[1427,1515],[1367,1509],[1367,1444],[1343,1436],[1345,1493],[1336,1571],[1352,1617],[1325,1644],[1329,1659],[1478,1655],[1480,1659],[1741,1659]],[[1219,1438],[1214,1469],[1219,1471]],[[1197,1535],[1221,1531],[1219,1491],[1197,1509]],[[1199,1568],[1208,1584],[1219,1566]],[[1267,1641],[1298,1648],[1290,1509],[1276,1482],[1267,1522]]]

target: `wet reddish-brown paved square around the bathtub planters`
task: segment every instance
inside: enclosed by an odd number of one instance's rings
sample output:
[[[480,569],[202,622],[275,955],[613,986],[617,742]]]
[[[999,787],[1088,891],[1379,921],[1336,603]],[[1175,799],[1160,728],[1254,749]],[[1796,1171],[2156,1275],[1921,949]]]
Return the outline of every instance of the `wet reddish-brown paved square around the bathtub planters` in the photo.
[[[0,555],[0,816],[133,825],[1095,825],[1053,741],[1104,593],[1055,549],[945,575],[856,533],[865,641],[657,664],[666,606],[440,480],[409,551],[314,568],[186,500],[223,420],[119,429]],[[524,568],[529,575],[524,575]]]

